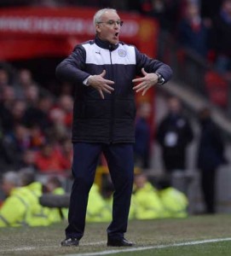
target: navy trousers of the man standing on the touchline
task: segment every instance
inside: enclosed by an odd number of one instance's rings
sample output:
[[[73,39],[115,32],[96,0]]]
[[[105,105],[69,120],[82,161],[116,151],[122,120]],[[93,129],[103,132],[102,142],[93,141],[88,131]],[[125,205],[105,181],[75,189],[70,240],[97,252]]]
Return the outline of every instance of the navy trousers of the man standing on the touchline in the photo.
[[[121,238],[127,230],[134,177],[133,144],[74,143],[72,162],[74,182],[72,184],[66,238],[81,239],[84,236],[89,192],[94,182],[95,169],[101,153],[106,157],[115,189],[113,220],[107,228],[107,236]]]

